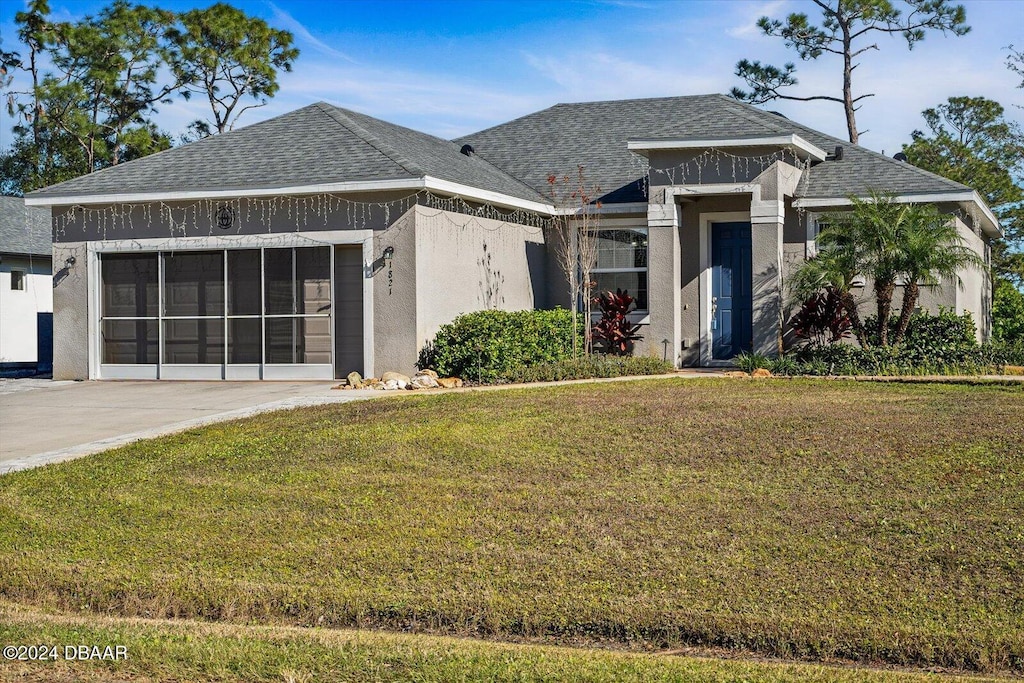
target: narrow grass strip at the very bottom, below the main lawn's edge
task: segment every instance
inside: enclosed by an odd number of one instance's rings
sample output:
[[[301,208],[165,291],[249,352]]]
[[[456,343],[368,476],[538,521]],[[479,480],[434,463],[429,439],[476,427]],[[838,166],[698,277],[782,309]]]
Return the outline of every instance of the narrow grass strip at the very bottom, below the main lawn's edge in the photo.
[[[983,680],[777,661],[726,660],[372,631],[154,622],[5,609],[0,643],[122,645],[111,663],[7,661],[0,681],[587,681],[950,683]],[[61,647],[58,652],[62,653]]]

